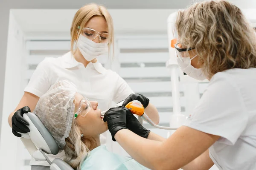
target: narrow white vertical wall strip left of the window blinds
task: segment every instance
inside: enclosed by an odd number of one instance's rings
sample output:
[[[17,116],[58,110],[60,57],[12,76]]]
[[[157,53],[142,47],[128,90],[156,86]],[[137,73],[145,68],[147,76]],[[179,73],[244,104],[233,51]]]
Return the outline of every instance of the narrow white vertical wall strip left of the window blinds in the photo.
[[[12,134],[8,124],[9,114],[16,108],[23,95],[24,79],[24,35],[20,26],[13,17],[12,11],[9,15],[9,31],[7,42],[5,86],[3,95],[3,117],[0,139],[0,170],[15,170],[20,163],[17,162],[18,139]]]

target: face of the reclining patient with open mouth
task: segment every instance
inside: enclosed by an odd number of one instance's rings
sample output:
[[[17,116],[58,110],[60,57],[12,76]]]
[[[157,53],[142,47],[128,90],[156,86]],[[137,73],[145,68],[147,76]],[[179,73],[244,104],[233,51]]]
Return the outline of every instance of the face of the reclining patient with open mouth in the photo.
[[[75,95],[75,105],[76,110],[79,108],[79,104],[84,97],[81,94],[76,93]],[[87,108],[86,115],[81,116],[79,114],[76,117],[76,121],[81,127],[82,133],[88,136],[98,136],[108,130],[108,125],[101,119],[101,110],[98,109],[98,102],[89,101],[90,108]],[[84,110],[86,107],[84,107]]]

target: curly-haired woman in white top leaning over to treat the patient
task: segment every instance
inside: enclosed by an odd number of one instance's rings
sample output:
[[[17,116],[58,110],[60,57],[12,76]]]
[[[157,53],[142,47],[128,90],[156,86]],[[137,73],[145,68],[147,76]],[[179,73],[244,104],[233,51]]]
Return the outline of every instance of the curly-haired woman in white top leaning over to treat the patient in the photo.
[[[111,110],[104,120],[113,138],[152,170],[208,170],[214,164],[220,170],[256,170],[255,30],[224,0],[179,11],[175,27],[178,63],[189,76],[209,80],[204,95],[165,140],[152,132],[147,139],[136,135],[125,124],[130,114]]]

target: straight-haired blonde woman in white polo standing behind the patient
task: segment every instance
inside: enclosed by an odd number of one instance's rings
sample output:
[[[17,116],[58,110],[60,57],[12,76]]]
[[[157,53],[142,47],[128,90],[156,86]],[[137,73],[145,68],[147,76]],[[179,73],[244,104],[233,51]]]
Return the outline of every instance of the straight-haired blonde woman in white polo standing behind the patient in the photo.
[[[106,70],[97,61],[99,55],[108,54],[109,49],[113,47],[113,21],[107,9],[96,4],[81,7],[74,16],[70,34],[71,51],[58,58],[46,58],[38,65],[24,90],[20,103],[10,114],[9,125],[14,135],[20,137],[18,132],[29,131],[26,127],[28,123],[22,115],[30,110],[33,111],[39,98],[61,79],[73,82],[80,94],[90,100],[98,101],[99,108],[103,111],[111,107],[112,101],[120,102],[130,95],[130,98],[143,102],[148,115],[158,123],[158,112],[149,100],[143,95],[134,94],[118,74]],[[47,162],[35,160],[32,160],[30,165],[49,166]],[[35,166],[32,166],[33,168],[39,169]]]

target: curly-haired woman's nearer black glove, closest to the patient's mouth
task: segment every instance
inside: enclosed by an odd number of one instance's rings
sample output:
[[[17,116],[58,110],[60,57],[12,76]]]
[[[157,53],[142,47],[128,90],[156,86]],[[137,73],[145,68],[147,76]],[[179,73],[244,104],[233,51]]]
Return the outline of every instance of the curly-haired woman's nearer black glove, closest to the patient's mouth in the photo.
[[[104,115],[103,121],[108,123],[108,130],[111,133],[112,140],[116,141],[114,138],[116,132],[121,129],[127,129],[126,127],[126,111],[124,107],[110,108]],[[127,108],[125,108],[127,109]]]

